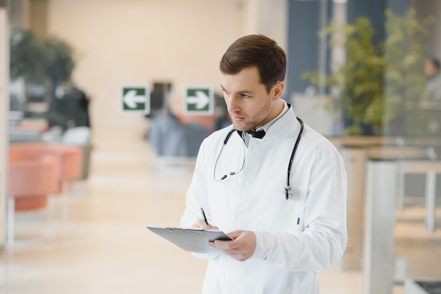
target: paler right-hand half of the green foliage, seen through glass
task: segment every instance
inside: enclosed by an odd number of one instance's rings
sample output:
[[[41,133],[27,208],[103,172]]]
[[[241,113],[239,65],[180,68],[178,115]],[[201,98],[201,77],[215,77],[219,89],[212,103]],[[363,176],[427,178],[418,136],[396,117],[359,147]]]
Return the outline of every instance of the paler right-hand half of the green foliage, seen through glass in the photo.
[[[384,133],[421,134],[426,115],[418,103],[428,100],[423,64],[426,60],[423,36],[429,34],[433,17],[418,20],[409,9],[403,16],[386,11],[385,41],[385,125]],[[411,106],[411,110],[409,110]]]

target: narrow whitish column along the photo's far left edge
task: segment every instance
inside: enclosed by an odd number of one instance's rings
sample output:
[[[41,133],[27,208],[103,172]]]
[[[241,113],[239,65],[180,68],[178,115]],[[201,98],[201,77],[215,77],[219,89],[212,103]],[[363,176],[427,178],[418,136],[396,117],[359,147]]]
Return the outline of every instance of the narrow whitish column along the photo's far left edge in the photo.
[[[6,183],[8,175],[9,41],[7,9],[0,6],[0,247],[6,236]]]

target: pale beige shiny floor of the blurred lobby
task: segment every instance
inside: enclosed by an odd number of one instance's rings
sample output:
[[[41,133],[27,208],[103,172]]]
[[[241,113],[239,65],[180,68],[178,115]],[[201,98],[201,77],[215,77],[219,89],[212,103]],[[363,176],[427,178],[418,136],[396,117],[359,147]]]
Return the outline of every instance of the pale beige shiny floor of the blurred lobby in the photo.
[[[49,224],[18,217],[18,234],[44,227],[55,236],[1,252],[0,293],[199,293],[206,261],[146,229],[178,226],[194,162],[157,160],[141,137],[95,137],[89,179],[75,183],[67,219],[55,213],[59,198],[51,199]],[[397,213],[397,256],[409,257],[411,274],[441,278],[441,231],[428,234],[422,217],[421,205]],[[322,271],[321,293],[363,293],[362,271],[338,265]]]

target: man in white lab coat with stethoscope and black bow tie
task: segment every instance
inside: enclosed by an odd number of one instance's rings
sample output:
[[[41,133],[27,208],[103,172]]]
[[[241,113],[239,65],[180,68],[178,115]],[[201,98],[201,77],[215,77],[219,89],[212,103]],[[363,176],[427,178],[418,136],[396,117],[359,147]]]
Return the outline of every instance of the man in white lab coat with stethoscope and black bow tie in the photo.
[[[232,238],[209,243],[216,253],[195,253],[210,260],[202,292],[319,293],[318,272],[347,243],[342,158],[306,124],[301,132],[280,98],[286,56],[275,41],[237,39],[220,69],[232,127],[201,144],[181,218],[183,227],[218,228]]]

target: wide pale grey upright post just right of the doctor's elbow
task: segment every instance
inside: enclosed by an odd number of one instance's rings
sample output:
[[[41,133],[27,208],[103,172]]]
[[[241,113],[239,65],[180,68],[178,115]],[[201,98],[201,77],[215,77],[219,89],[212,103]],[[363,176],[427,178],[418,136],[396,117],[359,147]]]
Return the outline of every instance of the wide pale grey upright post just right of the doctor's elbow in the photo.
[[[395,276],[396,162],[369,160],[364,293],[390,294]]]

